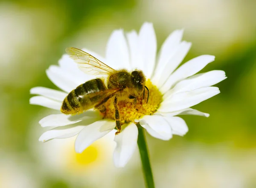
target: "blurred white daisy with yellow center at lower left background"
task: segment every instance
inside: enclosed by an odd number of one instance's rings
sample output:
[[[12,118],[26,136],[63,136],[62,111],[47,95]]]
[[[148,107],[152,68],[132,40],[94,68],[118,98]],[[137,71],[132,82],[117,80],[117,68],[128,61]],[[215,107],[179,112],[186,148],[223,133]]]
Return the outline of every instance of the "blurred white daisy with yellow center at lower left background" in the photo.
[[[111,161],[115,147],[114,135],[114,131],[109,133],[93,142],[82,153],[75,152],[74,137],[55,139],[44,145],[33,144],[32,149],[43,174],[65,179],[72,186],[111,188],[116,181],[113,176],[117,173]]]

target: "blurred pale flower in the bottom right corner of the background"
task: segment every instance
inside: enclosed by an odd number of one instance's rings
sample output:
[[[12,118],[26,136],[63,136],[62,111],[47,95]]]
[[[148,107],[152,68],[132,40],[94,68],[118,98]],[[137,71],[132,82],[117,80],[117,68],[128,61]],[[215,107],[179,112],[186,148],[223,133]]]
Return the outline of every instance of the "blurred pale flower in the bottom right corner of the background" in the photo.
[[[161,188],[245,188],[255,185],[255,150],[244,152],[243,149],[194,143],[168,153],[169,158],[156,159],[154,163],[158,172],[156,184]]]

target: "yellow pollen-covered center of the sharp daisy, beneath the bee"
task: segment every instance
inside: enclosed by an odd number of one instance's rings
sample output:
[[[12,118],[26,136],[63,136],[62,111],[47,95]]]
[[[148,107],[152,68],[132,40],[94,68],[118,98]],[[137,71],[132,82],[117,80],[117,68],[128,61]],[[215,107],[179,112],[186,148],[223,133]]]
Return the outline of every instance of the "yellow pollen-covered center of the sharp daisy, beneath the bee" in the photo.
[[[142,96],[137,97],[136,105],[134,105],[132,101],[118,101],[117,108],[119,111],[119,120],[121,124],[134,122],[135,119],[139,119],[145,115],[152,115],[157,111],[163,100],[163,95],[160,93],[157,87],[151,83],[149,79],[146,82],[146,86],[149,90],[148,103],[147,90],[145,90],[144,98],[143,94]],[[111,100],[108,100],[105,106],[107,110],[104,118],[115,119],[115,110],[113,110],[113,104],[111,104]]]

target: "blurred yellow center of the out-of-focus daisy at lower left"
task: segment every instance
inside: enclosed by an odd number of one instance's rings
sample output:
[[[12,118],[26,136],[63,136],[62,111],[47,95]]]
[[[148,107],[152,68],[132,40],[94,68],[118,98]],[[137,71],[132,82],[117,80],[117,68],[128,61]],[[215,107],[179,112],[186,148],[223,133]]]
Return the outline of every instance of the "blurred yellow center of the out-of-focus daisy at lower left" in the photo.
[[[90,145],[82,153],[76,153],[76,162],[80,165],[88,165],[96,161],[98,157],[98,148]]]

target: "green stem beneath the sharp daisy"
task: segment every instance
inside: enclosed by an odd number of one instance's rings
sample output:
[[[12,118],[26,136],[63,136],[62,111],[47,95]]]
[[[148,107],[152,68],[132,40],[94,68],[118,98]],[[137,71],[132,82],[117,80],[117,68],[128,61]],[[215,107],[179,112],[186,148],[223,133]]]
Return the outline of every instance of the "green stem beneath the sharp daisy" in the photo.
[[[139,130],[138,146],[140,150],[140,159],[143,167],[145,185],[146,185],[146,188],[154,188],[154,179],[153,179],[149,157],[148,157],[148,148],[147,148],[147,142],[145,140],[144,128],[139,125],[138,130]]]

